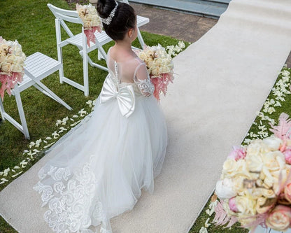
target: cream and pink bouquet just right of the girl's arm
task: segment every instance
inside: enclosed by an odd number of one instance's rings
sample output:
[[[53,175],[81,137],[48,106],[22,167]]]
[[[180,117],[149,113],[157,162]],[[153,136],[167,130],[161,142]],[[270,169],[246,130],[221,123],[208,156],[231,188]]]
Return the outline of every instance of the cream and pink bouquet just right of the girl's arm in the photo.
[[[146,63],[150,80],[155,86],[154,96],[159,100],[159,94],[166,90],[169,82],[173,83],[173,60],[168,55],[162,45],[145,46],[145,48],[137,52],[139,58]]]

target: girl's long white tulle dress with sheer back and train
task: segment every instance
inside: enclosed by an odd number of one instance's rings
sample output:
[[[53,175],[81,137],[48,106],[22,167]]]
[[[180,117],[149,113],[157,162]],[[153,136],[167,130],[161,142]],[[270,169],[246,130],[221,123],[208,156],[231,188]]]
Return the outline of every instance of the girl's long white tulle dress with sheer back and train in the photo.
[[[133,209],[141,188],[152,194],[162,169],[166,122],[146,65],[115,62],[108,50],[107,66],[94,111],[45,152],[52,157],[38,171],[33,188],[53,232],[92,233],[99,224],[112,232],[110,219]]]

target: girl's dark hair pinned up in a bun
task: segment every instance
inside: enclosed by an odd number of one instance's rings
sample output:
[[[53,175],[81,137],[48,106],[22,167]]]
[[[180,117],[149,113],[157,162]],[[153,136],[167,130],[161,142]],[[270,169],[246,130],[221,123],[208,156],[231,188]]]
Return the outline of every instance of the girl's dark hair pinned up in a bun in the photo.
[[[98,0],[97,11],[100,17],[106,18],[115,8],[115,0]],[[118,8],[109,25],[103,24],[104,30],[113,41],[120,41],[125,38],[129,29],[135,27],[136,13],[132,6],[127,3],[118,2]]]

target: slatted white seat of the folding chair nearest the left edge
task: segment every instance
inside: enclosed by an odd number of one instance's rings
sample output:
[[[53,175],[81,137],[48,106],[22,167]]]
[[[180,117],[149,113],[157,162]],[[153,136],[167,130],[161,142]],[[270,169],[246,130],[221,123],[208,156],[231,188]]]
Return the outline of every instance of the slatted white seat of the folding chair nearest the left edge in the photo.
[[[43,55],[41,52],[35,52],[27,57],[24,66],[24,76],[21,83],[19,83],[19,91],[27,89],[31,85],[34,85],[34,81],[29,78],[28,75],[34,76],[37,80],[49,76],[62,67],[62,64],[51,57]]]

